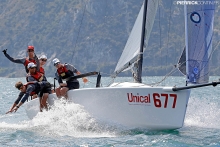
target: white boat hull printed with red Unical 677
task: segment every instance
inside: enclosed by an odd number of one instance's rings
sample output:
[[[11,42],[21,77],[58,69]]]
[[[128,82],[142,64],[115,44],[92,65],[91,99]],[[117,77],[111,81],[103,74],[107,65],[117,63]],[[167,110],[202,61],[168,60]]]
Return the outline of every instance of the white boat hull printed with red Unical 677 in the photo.
[[[149,87],[138,83],[115,86],[70,90],[68,97],[102,122],[151,130],[183,126],[190,90],[173,92],[169,87]],[[49,104],[55,97],[55,94],[50,95]],[[25,109],[32,119],[39,112],[38,99],[27,102]]]

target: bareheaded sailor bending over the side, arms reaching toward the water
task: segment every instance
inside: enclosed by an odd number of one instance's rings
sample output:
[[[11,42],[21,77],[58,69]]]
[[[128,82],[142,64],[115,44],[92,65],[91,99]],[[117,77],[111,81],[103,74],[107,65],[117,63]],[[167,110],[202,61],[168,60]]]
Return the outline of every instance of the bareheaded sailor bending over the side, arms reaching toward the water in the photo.
[[[40,93],[39,94],[40,97],[44,93],[43,98],[42,98],[43,103],[41,104],[41,108],[47,109],[46,101],[48,98],[48,94],[51,93],[51,85],[49,82],[33,81],[33,82],[28,82],[26,84],[23,84],[22,82],[17,82],[15,84],[15,87],[21,92],[19,93],[18,98],[16,99],[16,101],[14,102],[10,110],[6,112],[6,114],[8,114],[9,112],[13,112],[13,111],[16,112],[18,108],[28,99],[30,95],[33,95],[36,93]],[[45,94],[45,93],[48,93],[48,94]]]

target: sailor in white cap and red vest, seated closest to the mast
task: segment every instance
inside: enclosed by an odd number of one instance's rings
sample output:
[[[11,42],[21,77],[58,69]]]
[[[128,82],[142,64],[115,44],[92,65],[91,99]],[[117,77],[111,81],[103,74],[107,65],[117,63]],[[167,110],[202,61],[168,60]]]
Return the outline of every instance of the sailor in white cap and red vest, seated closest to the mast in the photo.
[[[55,58],[53,60],[53,65],[57,68],[55,77],[58,80],[59,87],[55,90],[58,98],[67,98],[67,91],[72,89],[79,89],[79,81],[77,79],[71,78],[74,73],[80,75],[81,73],[71,64],[64,63],[61,64],[60,60]],[[88,82],[87,78],[82,78],[83,82]],[[66,81],[66,83],[63,83]]]

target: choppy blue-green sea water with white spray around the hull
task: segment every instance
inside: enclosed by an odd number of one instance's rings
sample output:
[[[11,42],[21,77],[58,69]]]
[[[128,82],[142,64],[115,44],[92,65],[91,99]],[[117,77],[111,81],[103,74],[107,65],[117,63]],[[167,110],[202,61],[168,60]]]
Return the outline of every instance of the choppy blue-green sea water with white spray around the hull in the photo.
[[[163,77],[143,77],[152,84]],[[48,78],[53,83],[53,78]],[[81,88],[95,87],[95,78]],[[14,88],[17,81],[25,78],[0,78],[0,147],[4,146],[220,146],[220,86],[193,89],[189,98],[184,126],[171,131],[125,129],[112,124],[101,124],[82,106],[56,101],[49,111],[28,119],[21,106],[16,113],[5,114],[17,98]],[[117,82],[131,78],[117,78]],[[211,77],[210,81],[218,80]],[[111,79],[102,78],[102,86]],[[170,77],[161,85],[184,86],[183,77]]]

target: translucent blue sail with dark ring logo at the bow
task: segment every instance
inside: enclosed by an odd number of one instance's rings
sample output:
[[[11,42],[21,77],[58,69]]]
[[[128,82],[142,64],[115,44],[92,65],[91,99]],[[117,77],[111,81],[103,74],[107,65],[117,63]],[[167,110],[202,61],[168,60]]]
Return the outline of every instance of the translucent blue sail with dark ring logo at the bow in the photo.
[[[214,0],[198,5],[185,5],[186,47],[179,60],[179,70],[186,74],[190,83],[209,81],[214,11]]]

